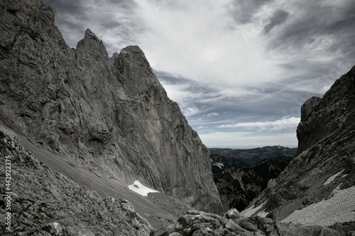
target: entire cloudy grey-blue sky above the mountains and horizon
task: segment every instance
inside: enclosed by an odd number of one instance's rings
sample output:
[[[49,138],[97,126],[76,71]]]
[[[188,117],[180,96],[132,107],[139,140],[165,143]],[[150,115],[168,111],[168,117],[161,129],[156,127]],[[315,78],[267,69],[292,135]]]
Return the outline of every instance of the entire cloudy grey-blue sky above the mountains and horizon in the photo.
[[[297,147],[302,103],[355,64],[353,0],[43,3],[70,47],[141,47],[207,147]]]

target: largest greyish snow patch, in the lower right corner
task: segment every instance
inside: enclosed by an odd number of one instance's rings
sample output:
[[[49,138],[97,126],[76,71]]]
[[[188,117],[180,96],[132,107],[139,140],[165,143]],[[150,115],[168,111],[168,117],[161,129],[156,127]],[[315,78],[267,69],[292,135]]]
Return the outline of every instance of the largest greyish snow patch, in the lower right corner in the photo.
[[[334,191],[334,196],[319,203],[313,203],[301,210],[295,210],[281,223],[330,226],[334,223],[349,222],[355,219],[355,186]]]

